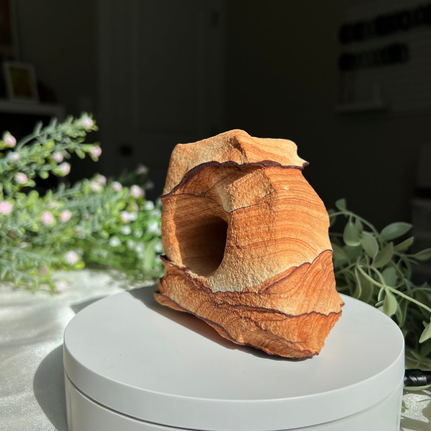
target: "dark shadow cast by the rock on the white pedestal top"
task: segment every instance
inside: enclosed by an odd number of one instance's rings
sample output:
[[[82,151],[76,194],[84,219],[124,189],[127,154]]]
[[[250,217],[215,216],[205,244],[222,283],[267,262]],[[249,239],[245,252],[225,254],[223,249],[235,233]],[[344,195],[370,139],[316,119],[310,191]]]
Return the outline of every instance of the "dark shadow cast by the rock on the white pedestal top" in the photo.
[[[258,356],[259,358],[272,359],[275,361],[304,361],[309,359],[289,359],[283,358],[281,356],[269,355],[263,350],[259,350],[255,347],[251,346],[243,346],[241,344],[235,344],[232,341],[229,341],[223,338],[221,335],[215,331],[214,328],[206,324],[203,320],[199,319],[197,316],[187,313],[180,312],[177,310],[173,310],[169,307],[160,305],[154,299],[154,292],[156,290],[156,286],[149,287],[141,287],[139,289],[129,290],[129,294],[131,294],[134,298],[140,300],[145,306],[147,306],[150,310],[153,310],[167,319],[172,320],[173,322],[178,323],[178,325],[182,325],[191,331],[196,332],[202,337],[206,337],[214,343],[220,344],[220,346],[225,347],[226,349],[235,349],[241,350],[245,353],[249,353],[250,355]]]

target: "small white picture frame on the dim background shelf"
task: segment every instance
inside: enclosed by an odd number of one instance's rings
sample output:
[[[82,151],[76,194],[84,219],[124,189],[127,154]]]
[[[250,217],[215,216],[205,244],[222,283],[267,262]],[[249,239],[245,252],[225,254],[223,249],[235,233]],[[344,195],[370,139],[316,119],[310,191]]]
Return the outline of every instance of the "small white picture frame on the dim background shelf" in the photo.
[[[33,65],[18,61],[3,62],[6,95],[15,102],[37,103],[36,74]]]

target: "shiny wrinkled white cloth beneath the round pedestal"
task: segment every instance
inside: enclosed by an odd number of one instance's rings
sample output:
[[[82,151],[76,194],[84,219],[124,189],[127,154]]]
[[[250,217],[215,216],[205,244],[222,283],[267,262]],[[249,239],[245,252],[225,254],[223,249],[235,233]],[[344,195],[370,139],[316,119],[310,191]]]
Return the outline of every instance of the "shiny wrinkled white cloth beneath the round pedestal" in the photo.
[[[65,273],[57,295],[0,285],[0,430],[67,431],[63,333],[82,308],[129,286],[118,272]],[[404,394],[401,431],[430,431],[431,391]]]

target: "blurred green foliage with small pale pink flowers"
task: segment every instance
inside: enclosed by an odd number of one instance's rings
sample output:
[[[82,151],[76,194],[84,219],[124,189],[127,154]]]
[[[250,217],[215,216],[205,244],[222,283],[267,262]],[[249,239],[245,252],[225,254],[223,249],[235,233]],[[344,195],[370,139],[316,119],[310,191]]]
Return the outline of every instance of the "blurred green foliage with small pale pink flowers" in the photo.
[[[145,200],[147,168],[123,181],[95,175],[69,187],[61,183],[43,196],[36,177],[66,176],[72,153],[97,161],[98,144],[87,144],[97,130],[91,116],[37,124],[18,143],[9,132],[0,141],[0,280],[31,290],[61,291],[58,269],[100,264],[141,281],[162,275],[161,203]],[[25,188],[24,188],[25,187]],[[23,189],[24,188],[24,189]]]

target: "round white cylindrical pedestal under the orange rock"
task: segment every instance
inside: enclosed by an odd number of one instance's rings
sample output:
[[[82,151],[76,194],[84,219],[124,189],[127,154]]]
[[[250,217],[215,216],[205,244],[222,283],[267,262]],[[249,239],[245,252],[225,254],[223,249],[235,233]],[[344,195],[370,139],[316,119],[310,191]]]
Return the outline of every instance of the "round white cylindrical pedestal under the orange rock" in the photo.
[[[404,340],[343,296],[319,356],[292,361],[159,305],[154,287],[107,297],[66,328],[69,431],[398,431]]]

